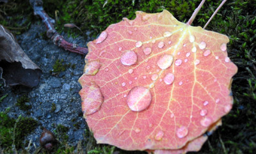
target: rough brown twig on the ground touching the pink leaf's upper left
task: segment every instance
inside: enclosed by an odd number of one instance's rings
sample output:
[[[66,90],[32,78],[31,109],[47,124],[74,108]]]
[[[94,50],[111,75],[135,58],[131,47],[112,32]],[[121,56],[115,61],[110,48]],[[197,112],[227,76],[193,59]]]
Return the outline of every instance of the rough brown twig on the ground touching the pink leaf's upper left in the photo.
[[[29,3],[34,9],[34,14],[39,15],[43,20],[46,28],[47,28],[47,37],[51,38],[52,42],[59,47],[63,47],[65,50],[69,50],[71,52],[76,52],[78,54],[87,54],[88,49],[85,47],[79,47],[76,43],[69,43],[67,42],[63,36],[61,36],[52,23],[54,20],[47,15],[43,8],[43,1],[42,0],[29,0]]]

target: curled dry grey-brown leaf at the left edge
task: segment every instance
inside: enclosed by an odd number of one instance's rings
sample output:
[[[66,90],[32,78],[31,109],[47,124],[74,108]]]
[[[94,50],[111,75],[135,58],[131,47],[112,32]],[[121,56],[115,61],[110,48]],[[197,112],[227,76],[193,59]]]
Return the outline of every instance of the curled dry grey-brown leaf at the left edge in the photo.
[[[3,68],[3,78],[10,86],[22,84],[34,87],[42,74],[42,70],[20,48],[12,33],[1,25],[0,67]]]

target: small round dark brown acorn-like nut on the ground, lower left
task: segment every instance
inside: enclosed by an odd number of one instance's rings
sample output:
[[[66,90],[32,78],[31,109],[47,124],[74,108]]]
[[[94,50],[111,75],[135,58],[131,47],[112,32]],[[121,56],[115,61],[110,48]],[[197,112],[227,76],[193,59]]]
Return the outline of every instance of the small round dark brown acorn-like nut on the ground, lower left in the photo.
[[[54,134],[52,134],[51,131],[47,130],[46,128],[44,128],[41,137],[40,137],[40,144],[43,148],[45,148],[48,151],[51,151],[54,144],[56,144],[57,140],[54,136]]]

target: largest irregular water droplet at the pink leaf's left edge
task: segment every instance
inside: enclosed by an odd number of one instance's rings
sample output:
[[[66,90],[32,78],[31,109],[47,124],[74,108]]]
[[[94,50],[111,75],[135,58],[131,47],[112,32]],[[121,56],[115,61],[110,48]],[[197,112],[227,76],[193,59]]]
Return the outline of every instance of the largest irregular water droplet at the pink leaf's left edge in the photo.
[[[90,83],[90,86],[85,86],[81,91],[79,91],[79,94],[81,95],[82,111],[84,116],[88,116],[99,111],[104,98],[97,84],[93,82]]]

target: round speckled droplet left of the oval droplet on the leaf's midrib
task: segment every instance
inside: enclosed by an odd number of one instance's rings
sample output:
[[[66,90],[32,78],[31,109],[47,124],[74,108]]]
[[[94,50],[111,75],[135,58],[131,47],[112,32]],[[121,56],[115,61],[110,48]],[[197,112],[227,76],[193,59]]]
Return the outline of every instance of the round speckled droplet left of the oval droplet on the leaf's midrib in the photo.
[[[132,50],[124,52],[124,54],[122,54],[120,58],[120,61],[123,65],[127,65],[127,66],[134,65],[137,61],[137,54]]]

